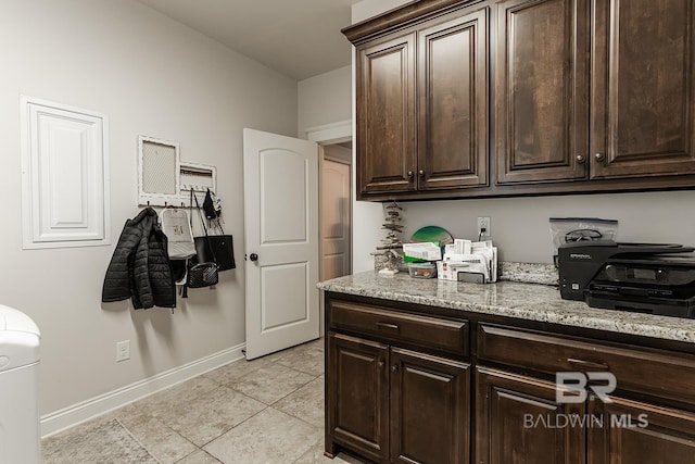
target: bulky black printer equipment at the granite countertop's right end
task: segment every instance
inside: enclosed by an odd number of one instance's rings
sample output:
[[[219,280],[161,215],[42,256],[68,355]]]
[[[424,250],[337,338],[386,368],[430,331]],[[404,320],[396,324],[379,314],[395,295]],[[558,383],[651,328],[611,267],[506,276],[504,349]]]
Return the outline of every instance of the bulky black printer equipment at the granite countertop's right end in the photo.
[[[593,308],[695,318],[693,251],[677,243],[561,244],[560,296]]]

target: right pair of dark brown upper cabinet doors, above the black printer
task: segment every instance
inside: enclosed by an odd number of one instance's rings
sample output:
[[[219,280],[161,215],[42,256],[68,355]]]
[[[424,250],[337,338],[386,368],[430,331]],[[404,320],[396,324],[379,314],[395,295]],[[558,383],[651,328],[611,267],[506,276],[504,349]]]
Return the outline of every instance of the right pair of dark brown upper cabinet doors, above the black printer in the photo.
[[[508,0],[496,16],[498,184],[695,173],[692,2]]]

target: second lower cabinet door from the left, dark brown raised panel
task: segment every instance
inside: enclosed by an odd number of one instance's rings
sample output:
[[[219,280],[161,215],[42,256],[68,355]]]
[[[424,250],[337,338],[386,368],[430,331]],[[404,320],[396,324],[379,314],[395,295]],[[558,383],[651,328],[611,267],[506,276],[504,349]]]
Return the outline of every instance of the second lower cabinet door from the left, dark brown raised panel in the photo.
[[[469,364],[391,349],[391,460],[469,462]]]

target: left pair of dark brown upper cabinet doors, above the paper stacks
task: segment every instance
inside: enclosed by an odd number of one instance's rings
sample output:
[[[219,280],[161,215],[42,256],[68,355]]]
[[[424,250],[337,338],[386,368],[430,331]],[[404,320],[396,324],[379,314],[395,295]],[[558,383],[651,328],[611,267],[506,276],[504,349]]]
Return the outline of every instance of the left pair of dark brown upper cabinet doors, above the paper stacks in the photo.
[[[488,8],[357,46],[358,191],[486,186]]]

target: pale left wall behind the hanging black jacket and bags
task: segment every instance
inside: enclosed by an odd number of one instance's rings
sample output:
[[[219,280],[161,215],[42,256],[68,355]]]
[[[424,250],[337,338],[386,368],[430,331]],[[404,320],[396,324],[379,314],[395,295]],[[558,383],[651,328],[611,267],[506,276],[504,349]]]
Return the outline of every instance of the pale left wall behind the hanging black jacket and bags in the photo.
[[[294,136],[296,83],[131,0],[3,0],[0,14],[0,303],[42,333],[41,414],[244,341],[242,128]],[[22,250],[20,95],[105,113],[109,247]],[[217,166],[238,268],[168,310],[101,303],[104,272],[137,205],[137,136]],[[118,340],[131,359],[115,363]]]

